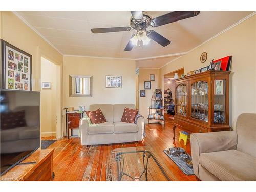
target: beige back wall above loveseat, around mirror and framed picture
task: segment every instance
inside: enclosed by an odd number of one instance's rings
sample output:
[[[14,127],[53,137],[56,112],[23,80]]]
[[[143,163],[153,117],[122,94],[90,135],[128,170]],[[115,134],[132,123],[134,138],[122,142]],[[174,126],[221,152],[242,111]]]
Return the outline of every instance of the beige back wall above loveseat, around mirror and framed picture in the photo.
[[[69,75],[93,76],[93,96],[70,97]],[[106,75],[122,76],[122,88],[106,88]],[[65,107],[78,109],[81,105],[89,110],[91,104],[135,104],[135,61],[65,56],[63,85]]]

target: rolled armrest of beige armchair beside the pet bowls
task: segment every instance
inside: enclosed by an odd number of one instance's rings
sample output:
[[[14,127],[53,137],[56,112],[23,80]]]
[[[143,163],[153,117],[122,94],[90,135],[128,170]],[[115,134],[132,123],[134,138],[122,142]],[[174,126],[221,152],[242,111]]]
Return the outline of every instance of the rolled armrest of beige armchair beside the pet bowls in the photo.
[[[198,169],[200,154],[236,149],[238,136],[236,131],[193,133],[190,142],[194,173],[200,178]]]

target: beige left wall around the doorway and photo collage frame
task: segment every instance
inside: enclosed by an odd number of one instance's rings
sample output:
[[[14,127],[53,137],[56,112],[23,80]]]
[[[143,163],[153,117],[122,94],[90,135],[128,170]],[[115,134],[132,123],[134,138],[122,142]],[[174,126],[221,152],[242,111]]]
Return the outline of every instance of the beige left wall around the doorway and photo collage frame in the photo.
[[[47,41],[41,38],[28,25],[20,20],[13,12],[0,11],[0,38],[32,55],[32,89],[40,91],[41,56],[60,66],[62,69],[63,56]],[[57,107],[57,138],[61,137],[62,111],[62,76],[59,74],[59,100],[54,103]]]

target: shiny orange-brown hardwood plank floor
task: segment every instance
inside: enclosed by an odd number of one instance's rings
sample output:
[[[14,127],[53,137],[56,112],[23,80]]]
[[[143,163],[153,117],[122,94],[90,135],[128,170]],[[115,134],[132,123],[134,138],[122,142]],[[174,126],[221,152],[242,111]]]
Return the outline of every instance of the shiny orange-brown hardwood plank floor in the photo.
[[[169,178],[173,181],[196,181],[195,176],[185,175],[177,165],[163,152],[169,147],[183,147],[190,152],[190,143],[185,146],[183,141],[173,142],[173,119],[166,114],[165,129],[160,124],[146,125],[146,138],[142,143],[120,143],[109,145],[81,146],[79,138],[61,139],[54,142],[48,148],[54,148],[53,171],[54,181],[106,181],[107,158],[114,148],[150,146],[155,156],[165,169]],[[180,130],[176,129],[176,138]],[[55,139],[43,137],[42,140]]]

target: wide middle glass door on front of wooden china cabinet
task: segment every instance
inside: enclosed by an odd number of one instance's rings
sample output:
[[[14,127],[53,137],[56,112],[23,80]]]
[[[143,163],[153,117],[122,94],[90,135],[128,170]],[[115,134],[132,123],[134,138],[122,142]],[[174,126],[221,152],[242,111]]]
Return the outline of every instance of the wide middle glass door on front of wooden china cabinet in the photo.
[[[194,82],[191,86],[191,117],[208,122],[209,119],[209,92],[206,81]]]

